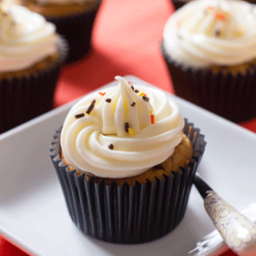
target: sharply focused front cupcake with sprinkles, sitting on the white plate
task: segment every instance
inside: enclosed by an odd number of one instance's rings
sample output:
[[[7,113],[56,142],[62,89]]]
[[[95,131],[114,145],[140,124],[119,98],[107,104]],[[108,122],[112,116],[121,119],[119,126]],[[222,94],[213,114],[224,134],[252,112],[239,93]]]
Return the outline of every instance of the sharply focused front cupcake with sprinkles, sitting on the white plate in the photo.
[[[206,142],[165,93],[116,79],[74,105],[50,155],[82,232],[144,243],[182,221]]]

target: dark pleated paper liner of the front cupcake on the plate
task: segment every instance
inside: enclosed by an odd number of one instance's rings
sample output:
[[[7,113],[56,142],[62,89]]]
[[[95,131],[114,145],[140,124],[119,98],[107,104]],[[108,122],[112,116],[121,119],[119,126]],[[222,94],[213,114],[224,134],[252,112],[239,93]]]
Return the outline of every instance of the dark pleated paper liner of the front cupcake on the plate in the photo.
[[[144,243],[167,235],[182,221],[206,145],[193,124],[186,122],[184,133],[194,146],[194,155],[185,168],[144,185],[125,182],[117,186],[115,182],[106,185],[104,180],[86,180],[84,174],[77,175],[63,165],[59,129],[50,156],[74,224],[89,236],[121,244]]]

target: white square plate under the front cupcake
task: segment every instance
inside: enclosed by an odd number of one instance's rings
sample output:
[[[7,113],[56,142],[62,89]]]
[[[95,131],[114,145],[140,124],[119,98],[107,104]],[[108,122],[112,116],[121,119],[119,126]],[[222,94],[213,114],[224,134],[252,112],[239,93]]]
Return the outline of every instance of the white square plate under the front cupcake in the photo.
[[[152,87],[137,77],[126,78],[132,84]],[[198,168],[203,179],[236,209],[256,202],[256,135],[190,102],[169,97],[206,136],[208,144]],[[34,255],[188,255],[196,242],[214,230],[195,187],[182,223],[154,242],[115,245],[85,236],[76,228],[49,157],[55,129],[61,127],[73,104],[0,135],[0,233]]]

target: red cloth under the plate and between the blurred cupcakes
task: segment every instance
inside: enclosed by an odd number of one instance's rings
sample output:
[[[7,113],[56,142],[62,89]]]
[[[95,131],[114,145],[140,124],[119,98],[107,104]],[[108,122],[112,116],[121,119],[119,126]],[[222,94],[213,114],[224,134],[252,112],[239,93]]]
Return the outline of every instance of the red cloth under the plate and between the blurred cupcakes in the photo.
[[[170,0],[103,0],[88,58],[63,68],[55,105],[100,88],[115,75],[133,74],[173,92],[160,52],[165,22],[173,7]],[[256,132],[256,119],[245,128]],[[27,256],[0,236],[0,256]],[[225,256],[235,255],[227,251]]]

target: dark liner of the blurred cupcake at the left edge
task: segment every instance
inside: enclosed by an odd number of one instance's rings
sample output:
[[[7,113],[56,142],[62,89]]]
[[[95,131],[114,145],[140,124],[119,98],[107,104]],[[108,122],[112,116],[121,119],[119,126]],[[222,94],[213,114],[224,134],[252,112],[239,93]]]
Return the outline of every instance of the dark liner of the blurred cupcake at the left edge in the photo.
[[[67,43],[61,38],[59,57],[45,70],[0,79],[0,133],[53,108],[54,91],[67,53]]]

